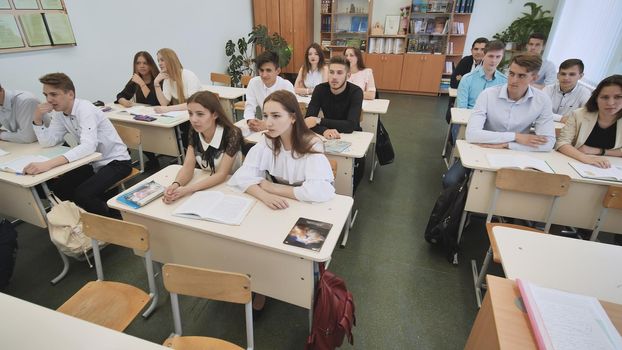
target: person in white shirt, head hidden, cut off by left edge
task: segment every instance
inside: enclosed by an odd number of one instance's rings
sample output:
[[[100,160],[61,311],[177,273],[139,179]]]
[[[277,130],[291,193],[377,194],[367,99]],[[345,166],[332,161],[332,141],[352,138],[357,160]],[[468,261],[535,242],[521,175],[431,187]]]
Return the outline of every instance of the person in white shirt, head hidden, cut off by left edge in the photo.
[[[39,100],[27,91],[6,90],[0,85],[0,140],[32,143],[37,136],[32,130],[32,116]]]

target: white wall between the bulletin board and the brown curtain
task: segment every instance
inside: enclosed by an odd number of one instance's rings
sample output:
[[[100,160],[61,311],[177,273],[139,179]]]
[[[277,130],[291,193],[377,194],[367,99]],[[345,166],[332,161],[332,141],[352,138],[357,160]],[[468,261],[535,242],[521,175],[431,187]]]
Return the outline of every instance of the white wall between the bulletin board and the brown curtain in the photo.
[[[134,53],[174,49],[187,69],[209,83],[225,72],[228,39],[252,30],[251,0],[181,3],[164,0],[65,0],[78,46],[0,54],[0,82],[41,95],[38,77],[67,73],[78,97],[111,101],[132,73]],[[183,4],[183,5],[180,5]]]

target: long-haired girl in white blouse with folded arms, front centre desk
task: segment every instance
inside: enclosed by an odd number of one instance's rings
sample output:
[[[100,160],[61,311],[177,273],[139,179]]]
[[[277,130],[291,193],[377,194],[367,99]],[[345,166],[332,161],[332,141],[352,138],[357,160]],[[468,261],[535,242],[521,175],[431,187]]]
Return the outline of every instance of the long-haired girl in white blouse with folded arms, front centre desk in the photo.
[[[251,148],[228,184],[272,209],[287,208],[284,197],[307,202],[333,198],[333,172],[324,146],[305,125],[296,96],[286,90],[273,92],[264,101],[263,113],[265,137]]]

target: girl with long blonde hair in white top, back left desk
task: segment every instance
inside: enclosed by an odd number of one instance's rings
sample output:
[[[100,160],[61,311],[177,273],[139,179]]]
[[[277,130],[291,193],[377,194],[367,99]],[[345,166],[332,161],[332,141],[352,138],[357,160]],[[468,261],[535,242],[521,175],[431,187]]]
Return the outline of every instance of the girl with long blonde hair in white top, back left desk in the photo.
[[[201,90],[201,81],[191,71],[184,69],[175,51],[163,48],[158,51],[160,74],[154,85],[160,106],[156,113],[186,110],[188,96]]]

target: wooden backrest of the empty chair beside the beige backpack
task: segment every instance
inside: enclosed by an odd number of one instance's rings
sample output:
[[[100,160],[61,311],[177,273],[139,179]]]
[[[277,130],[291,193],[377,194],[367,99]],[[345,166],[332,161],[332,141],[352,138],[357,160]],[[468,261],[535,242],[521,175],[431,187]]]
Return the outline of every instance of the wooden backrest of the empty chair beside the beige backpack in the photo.
[[[84,234],[92,239],[142,252],[149,250],[149,232],[143,225],[87,212],[80,216]]]

